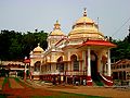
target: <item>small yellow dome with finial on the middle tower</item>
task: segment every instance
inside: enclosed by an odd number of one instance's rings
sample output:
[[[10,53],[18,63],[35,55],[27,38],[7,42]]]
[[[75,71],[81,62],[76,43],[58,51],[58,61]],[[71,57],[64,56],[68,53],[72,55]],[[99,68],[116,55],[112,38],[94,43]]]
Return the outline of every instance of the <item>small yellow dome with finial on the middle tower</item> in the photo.
[[[54,24],[54,29],[53,32],[51,32],[51,36],[62,36],[64,35],[64,33],[61,30],[60,28],[61,24],[58,23],[58,21],[56,21],[56,23]]]

